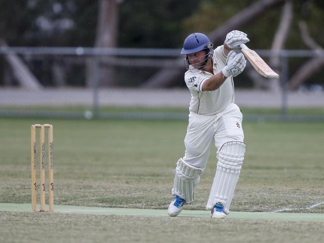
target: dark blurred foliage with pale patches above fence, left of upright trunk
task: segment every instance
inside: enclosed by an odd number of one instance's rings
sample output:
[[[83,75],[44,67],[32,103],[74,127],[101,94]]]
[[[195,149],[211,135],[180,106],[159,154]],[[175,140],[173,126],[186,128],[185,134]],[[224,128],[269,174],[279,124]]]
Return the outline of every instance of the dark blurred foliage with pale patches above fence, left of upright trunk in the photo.
[[[11,46],[89,46],[94,41],[97,1],[0,0],[0,4],[0,36]]]

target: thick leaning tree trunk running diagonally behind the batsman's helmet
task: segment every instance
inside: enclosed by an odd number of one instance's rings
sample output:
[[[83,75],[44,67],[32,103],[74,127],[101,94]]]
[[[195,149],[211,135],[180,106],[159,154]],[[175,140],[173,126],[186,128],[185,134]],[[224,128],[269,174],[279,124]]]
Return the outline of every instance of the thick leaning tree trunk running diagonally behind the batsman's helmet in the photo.
[[[226,34],[233,30],[237,29],[245,24],[250,23],[256,17],[260,16],[263,12],[269,11],[270,8],[282,4],[286,0],[259,0],[249,7],[238,12],[227,22],[211,31],[208,36],[210,41],[215,45],[221,44],[224,42]],[[183,59],[180,57],[179,59]],[[182,72],[182,69],[176,69],[170,71],[169,68],[163,68],[158,71],[153,77],[147,80],[142,87],[144,88],[158,88],[165,87],[174,82],[174,78],[179,75],[179,72]]]

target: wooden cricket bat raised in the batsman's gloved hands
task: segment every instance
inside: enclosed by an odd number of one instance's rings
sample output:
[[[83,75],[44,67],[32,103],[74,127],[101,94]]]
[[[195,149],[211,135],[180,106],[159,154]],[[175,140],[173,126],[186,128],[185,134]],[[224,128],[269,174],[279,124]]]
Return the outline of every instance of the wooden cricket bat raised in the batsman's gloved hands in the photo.
[[[259,74],[268,79],[279,79],[279,74],[273,71],[254,50],[249,49],[244,43],[240,44],[240,47],[244,56]]]

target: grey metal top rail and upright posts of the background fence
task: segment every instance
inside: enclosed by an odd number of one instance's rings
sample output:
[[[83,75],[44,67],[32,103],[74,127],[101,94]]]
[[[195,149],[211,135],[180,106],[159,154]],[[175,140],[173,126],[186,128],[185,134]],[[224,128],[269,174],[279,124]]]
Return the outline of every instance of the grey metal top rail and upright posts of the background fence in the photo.
[[[290,58],[324,58],[324,51],[313,50],[281,50],[278,52],[270,50],[256,50],[261,57],[280,57],[280,82],[282,85],[281,108],[282,118],[287,119],[288,116],[288,80],[289,80],[289,59]],[[107,59],[108,63],[113,63],[115,66],[121,67],[183,67],[182,57],[179,55],[180,49],[153,49],[153,48],[93,48],[93,47],[0,47],[0,57],[3,55],[19,55],[23,59],[30,61],[37,59],[40,56],[44,58],[53,57],[75,57],[83,58],[82,62],[85,65],[85,58],[92,59],[93,67],[93,82],[91,84],[92,90],[92,113],[97,117],[111,117],[110,115],[100,115],[100,97],[98,84],[98,67],[101,57],[111,57]],[[37,57],[37,58],[36,58]],[[115,59],[114,59],[115,58]],[[55,104],[54,104],[55,105]],[[3,106],[2,106],[3,107]],[[1,104],[0,104],[1,110]],[[2,109],[3,110],[3,109]],[[37,112],[36,112],[37,113]],[[6,116],[13,116],[10,111],[3,111],[2,114]],[[26,111],[20,113],[28,116]],[[30,112],[29,114],[35,114]],[[40,114],[37,113],[37,116]],[[72,117],[77,117],[76,113],[70,112]],[[46,116],[51,116],[48,112]],[[59,116],[68,117],[68,112],[61,112]],[[128,117],[123,115],[124,117]],[[137,117],[132,115],[131,117]],[[157,116],[159,117],[159,116]],[[168,117],[168,116],[166,116]],[[179,117],[179,116],[177,116]]]

